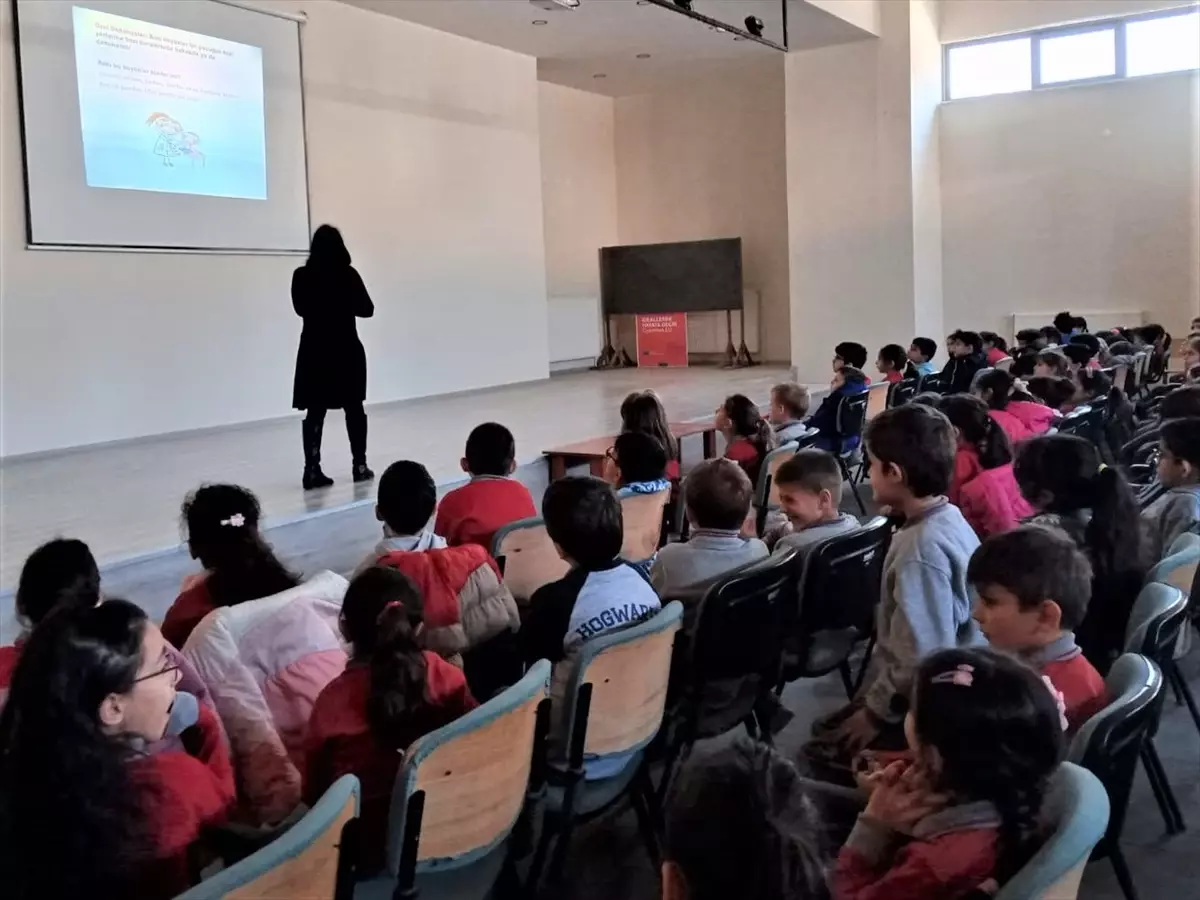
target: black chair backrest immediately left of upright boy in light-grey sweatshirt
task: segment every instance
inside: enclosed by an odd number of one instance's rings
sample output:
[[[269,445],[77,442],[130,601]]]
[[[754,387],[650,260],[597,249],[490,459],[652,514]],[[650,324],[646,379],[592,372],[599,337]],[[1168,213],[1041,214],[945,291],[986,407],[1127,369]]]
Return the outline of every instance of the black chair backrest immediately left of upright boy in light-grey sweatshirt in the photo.
[[[883,516],[821,541],[804,556],[797,587],[796,629],[802,652],[829,629],[870,632],[880,601],[892,526]]]

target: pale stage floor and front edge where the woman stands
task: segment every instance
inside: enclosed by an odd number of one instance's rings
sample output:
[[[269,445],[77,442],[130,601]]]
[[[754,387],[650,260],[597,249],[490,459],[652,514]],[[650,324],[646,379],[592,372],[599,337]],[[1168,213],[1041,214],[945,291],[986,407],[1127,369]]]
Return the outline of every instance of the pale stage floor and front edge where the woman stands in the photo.
[[[541,496],[541,451],[614,433],[619,406],[632,390],[658,391],[674,421],[712,415],[725,395],[766,402],[784,367],[626,368],[558,374],[545,382],[368,407],[370,461],[425,463],[439,488],[464,478],[458,461],[468,432],[494,420],[512,430],[518,478]],[[824,385],[814,385],[824,389]],[[701,456],[700,438],[685,446]],[[80,538],[104,571],[104,589],[161,617],[179,580],[196,570],[180,545],[179,508],[205,481],[251,488],[263,504],[269,540],[296,569],[349,570],[378,533],[374,485],[350,481],[341,414],[325,421],[323,467],[336,484],[300,487],[300,414],[227,428],[149,437],[16,458],[0,463],[0,643],[12,640],[12,592],[31,550],[55,535]]]

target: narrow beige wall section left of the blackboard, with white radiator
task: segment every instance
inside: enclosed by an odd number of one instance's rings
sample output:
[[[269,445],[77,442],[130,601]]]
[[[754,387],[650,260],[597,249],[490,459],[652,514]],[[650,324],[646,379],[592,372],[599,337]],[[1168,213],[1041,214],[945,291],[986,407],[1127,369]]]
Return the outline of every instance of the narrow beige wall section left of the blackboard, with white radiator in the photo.
[[[538,85],[541,186],[550,296],[550,360],[595,356],[600,340],[600,247],[618,244],[613,101]]]

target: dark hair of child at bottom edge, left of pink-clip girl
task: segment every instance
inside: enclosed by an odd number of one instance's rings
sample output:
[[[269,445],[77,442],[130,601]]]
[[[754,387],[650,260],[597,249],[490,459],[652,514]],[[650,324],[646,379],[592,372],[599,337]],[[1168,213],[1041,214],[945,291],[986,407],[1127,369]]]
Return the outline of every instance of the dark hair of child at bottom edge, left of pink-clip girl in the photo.
[[[815,812],[794,766],[738,738],[694,754],[666,805],[664,856],[689,900],[824,895]]]

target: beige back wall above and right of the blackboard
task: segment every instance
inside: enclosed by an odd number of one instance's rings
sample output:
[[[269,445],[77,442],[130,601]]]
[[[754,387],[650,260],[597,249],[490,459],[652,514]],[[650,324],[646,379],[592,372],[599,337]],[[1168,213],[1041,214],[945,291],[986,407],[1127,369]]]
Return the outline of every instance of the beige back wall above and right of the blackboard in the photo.
[[[773,361],[791,352],[781,56],[616,101],[620,242],[740,236]]]

